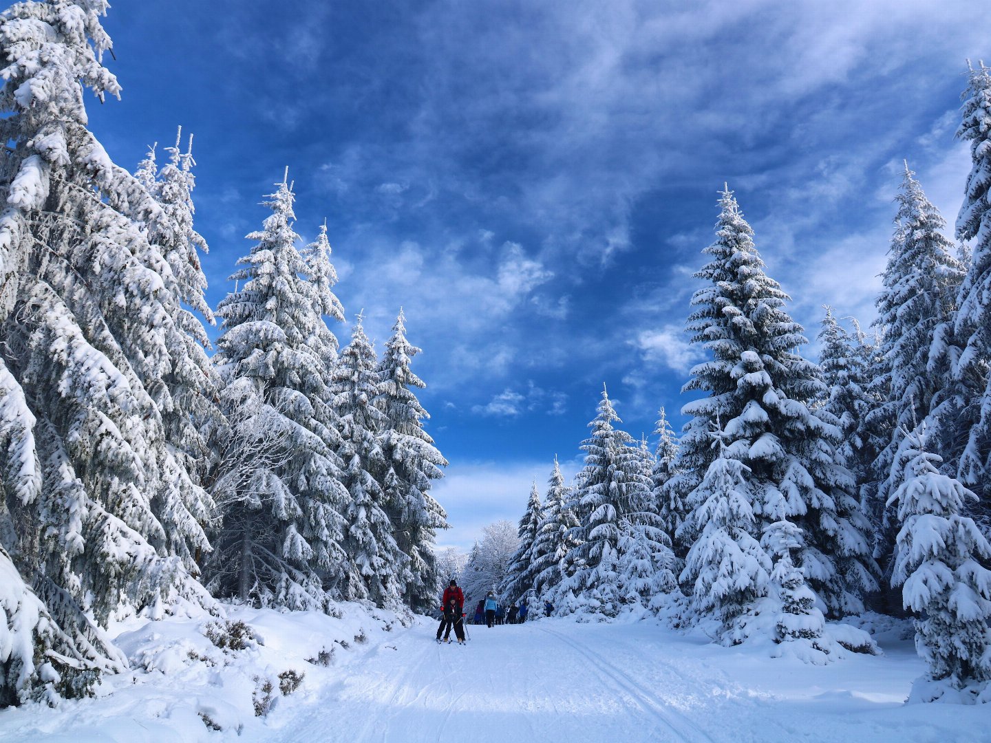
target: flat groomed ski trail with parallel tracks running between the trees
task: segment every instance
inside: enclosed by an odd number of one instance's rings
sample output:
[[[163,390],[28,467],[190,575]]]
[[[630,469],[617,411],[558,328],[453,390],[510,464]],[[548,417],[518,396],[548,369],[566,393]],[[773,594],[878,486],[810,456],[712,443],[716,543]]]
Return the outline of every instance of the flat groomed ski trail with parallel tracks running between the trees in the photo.
[[[624,677],[582,640],[568,637],[567,625],[550,630],[544,624],[475,625],[473,639],[457,647],[436,643],[436,625],[421,621],[390,646],[349,665],[346,678],[268,739],[714,740],[684,713],[664,709],[650,690]],[[682,689],[685,682],[675,675],[666,681],[685,694],[696,692]]]

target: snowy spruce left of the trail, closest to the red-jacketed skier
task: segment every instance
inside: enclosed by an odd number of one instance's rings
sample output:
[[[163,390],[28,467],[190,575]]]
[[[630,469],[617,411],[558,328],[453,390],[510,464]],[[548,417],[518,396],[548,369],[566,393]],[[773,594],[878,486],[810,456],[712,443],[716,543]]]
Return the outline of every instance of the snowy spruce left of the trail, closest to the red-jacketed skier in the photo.
[[[398,590],[408,606],[423,611],[436,600],[437,531],[448,528],[447,513],[430,495],[430,488],[433,480],[444,477],[441,468],[447,467],[447,460],[423,430],[423,421],[430,416],[413,388],[422,389],[426,384],[409,367],[420,349],[406,340],[405,321],[400,309],[379,365],[380,392],[375,403],[385,414],[380,434],[385,513],[399,552],[406,559]]]

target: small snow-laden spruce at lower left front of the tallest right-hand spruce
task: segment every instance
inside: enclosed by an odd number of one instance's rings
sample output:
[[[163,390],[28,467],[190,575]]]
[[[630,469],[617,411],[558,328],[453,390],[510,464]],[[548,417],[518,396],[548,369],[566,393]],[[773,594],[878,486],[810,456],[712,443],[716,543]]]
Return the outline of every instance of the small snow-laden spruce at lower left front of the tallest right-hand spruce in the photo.
[[[690,586],[696,616],[717,619],[721,641],[733,644],[745,639],[737,620],[767,595],[772,566],[753,536],[759,522],[748,468],[717,443],[718,456],[692,493],[699,505],[689,518],[698,538],[679,580]]]

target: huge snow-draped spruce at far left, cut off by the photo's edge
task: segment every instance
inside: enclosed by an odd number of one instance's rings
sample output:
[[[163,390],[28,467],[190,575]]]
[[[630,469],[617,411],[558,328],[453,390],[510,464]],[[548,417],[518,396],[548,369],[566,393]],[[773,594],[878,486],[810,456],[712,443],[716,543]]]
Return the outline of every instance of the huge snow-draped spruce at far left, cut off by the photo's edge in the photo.
[[[0,14],[0,540],[25,586],[0,618],[5,700],[83,693],[123,668],[93,620],[180,595],[210,602],[169,554],[159,508],[171,478],[188,477],[169,462],[159,401],[189,361],[146,229],[161,207],[86,128],[84,88],[120,91],[99,59],[106,8]]]

